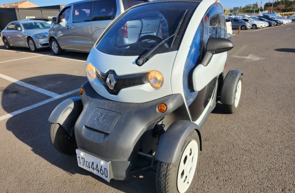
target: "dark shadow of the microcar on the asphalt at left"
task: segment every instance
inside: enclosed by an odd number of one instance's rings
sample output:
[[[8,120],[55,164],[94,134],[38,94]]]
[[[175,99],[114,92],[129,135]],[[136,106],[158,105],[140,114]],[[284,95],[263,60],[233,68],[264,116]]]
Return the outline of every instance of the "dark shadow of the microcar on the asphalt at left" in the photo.
[[[63,93],[67,93],[78,88],[87,79],[84,76],[54,74],[26,78],[20,81],[24,83],[38,84],[38,81],[36,80],[44,80],[42,81],[42,88],[51,91],[60,90]],[[61,85],[63,85],[63,88]],[[27,146],[30,146],[32,152],[49,162],[49,165],[52,164],[57,166],[71,176],[73,176],[73,174],[91,176],[92,178],[122,192],[154,193],[155,173],[152,171],[135,173],[130,176],[129,179],[124,181],[112,179],[110,182],[106,182],[99,176],[80,168],[77,164],[76,155],[64,155],[53,148],[49,137],[50,122],[48,121],[48,118],[53,109],[60,102],[73,96],[80,96],[80,94],[78,92],[73,93],[17,114],[7,120],[6,128],[8,131],[12,132],[18,140],[22,141]],[[51,97],[37,92],[34,93],[34,91],[29,88],[12,83],[4,88],[1,105],[7,113],[12,113],[32,104],[39,103],[40,101],[47,100],[48,98]]]

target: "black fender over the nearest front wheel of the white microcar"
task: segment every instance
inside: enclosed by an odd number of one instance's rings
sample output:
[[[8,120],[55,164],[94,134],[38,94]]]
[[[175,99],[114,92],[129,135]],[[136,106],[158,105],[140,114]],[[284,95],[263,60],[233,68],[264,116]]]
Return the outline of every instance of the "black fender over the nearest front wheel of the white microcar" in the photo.
[[[191,121],[175,121],[160,137],[155,159],[158,161],[172,164],[174,163],[181,151],[186,137],[192,130],[196,130],[200,140],[200,150],[202,150],[201,133],[199,126]]]

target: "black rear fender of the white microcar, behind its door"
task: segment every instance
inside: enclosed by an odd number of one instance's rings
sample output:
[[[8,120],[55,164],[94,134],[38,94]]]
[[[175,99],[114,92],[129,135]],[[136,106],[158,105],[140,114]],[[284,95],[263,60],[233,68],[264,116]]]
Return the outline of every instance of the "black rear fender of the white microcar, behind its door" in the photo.
[[[220,93],[222,104],[232,105],[232,101],[235,101],[233,97],[235,97],[236,87],[241,75],[243,75],[242,70],[233,69],[227,72]]]

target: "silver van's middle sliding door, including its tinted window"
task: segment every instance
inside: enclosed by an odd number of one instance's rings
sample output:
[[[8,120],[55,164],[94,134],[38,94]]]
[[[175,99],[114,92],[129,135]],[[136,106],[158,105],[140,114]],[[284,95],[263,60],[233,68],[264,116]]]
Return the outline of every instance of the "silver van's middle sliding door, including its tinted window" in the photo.
[[[71,31],[74,49],[77,51],[90,52],[93,47],[91,32],[92,3],[93,1],[88,1],[73,5]]]

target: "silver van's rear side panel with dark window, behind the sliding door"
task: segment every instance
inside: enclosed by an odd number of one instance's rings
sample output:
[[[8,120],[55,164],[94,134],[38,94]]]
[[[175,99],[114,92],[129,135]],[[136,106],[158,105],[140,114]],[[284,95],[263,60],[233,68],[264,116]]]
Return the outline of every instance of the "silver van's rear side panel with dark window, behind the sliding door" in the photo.
[[[92,12],[92,44],[94,45],[106,27],[117,17],[120,12],[117,11],[116,0],[93,1]]]

